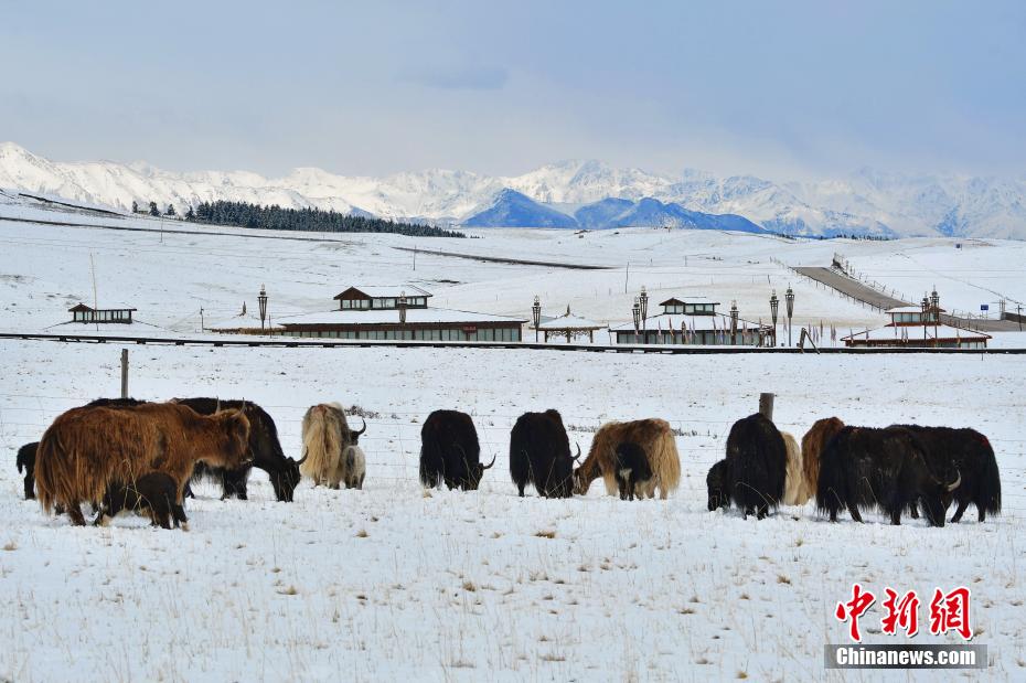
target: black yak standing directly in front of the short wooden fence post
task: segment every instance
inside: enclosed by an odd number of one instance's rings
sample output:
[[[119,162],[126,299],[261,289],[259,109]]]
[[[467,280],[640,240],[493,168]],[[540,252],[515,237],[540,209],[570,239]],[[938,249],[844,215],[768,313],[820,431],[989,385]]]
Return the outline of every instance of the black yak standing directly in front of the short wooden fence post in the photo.
[[[756,413],[734,423],[727,436],[727,492],[745,519],[765,517],[783,498],[788,450],[780,431]],[[712,491],[710,491],[712,498]]]

